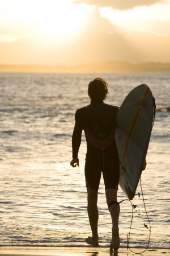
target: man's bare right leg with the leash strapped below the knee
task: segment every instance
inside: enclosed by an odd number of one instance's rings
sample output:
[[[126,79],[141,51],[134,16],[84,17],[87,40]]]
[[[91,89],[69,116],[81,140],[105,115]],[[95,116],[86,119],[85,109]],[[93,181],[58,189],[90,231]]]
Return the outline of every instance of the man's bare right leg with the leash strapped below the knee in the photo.
[[[120,206],[117,203],[117,189],[105,189],[107,204],[112,217],[112,241],[111,250],[118,250],[120,246],[120,238],[118,233],[118,218],[120,214]]]

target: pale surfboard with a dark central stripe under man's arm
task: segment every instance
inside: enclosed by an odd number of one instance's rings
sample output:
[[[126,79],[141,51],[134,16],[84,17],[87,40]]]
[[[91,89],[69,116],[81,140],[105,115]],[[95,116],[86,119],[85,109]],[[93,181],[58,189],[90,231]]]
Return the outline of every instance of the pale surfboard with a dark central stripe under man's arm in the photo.
[[[120,160],[120,187],[132,200],[146,167],[155,117],[155,98],[146,84],[126,96],[116,116],[115,139]]]

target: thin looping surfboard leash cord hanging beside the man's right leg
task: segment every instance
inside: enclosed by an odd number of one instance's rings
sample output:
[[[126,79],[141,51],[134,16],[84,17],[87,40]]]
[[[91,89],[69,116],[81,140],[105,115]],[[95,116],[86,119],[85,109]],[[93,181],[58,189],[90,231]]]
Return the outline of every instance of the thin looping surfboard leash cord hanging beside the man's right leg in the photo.
[[[151,224],[150,224],[150,220],[149,220],[149,217],[148,217],[148,214],[147,214],[147,210],[146,210],[146,205],[145,205],[145,199],[144,199],[144,195],[143,195],[143,190],[142,190],[142,183],[141,183],[141,179],[140,179],[140,186],[141,186],[141,193],[142,193],[142,199],[143,199],[143,206],[145,208],[145,213],[146,213],[146,216],[147,216],[147,220],[148,220],[148,224],[149,224],[149,237],[148,237],[148,243],[147,243],[147,246],[145,248],[145,250],[143,250],[141,253],[136,253],[135,251],[131,250],[131,248],[129,247],[129,241],[130,241],[130,231],[131,231],[131,226],[132,226],[132,222],[133,222],[133,215],[134,215],[134,209],[135,207],[137,207],[137,205],[133,205],[131,203],[131,200],[129,199],[124,199],[122,201],[119,202],[119,204],[121,204],[122,202],[124,201],[130,201],[130,204],[131,204],[131,208],[132,208],[132,214],[131,214],[131,222],[130,222],[130,228],[129,228],[129,234],[127,235],[127,250],[129,249],[131,251],[131,253],[134,253],[134,254],[142,254],[142,253],[145,253],[145,251],[148,249],[148,246],[149,246],[149,243],[150,243],[150,237],[151,237]],[[144,224],[145,228],[148,229],[148,226],[146,224]]]

